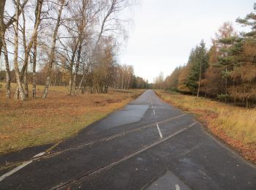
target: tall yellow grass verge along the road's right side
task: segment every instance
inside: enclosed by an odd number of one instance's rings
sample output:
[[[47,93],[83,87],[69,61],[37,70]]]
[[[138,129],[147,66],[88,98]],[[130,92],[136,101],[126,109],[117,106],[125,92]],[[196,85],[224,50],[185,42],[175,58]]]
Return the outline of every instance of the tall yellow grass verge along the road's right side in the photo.
[[[215,102],[210,99],[157,91],[166,102],[194,113],[221,140],[256,163],[256,110]]]

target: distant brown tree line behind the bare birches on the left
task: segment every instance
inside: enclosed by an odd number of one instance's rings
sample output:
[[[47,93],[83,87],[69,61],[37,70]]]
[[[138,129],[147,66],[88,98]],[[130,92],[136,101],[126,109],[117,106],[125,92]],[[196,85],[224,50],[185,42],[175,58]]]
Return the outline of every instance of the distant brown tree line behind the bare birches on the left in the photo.
[[[37,85],[45,85],[45,78],[47,75],[47,65],[43,66],[42,69],[37,71]],[[110,74],[105,75],[106,71],[102,72],[99,68],[94,69],[94,71],[89,71],[84,80],[83,86],[79,87],[79,81],[82,80],[83,75],[78,74],[77,82],[77,94],[84,94],[86,91],[89,93],[107,93],[108,87],[115,89],[129,89],[129,88],[151,88],[151,84],[148,83],[148,80],[144,80],[142,77],[138,77],[134,74],[133,66],[131,65],[120,65],[115,64],[113,67],[110,67]],[[33,82],[33,72],[26,73],[27,80],[29,84]],[[0,81],[5,80],[6,71],[0,71]],[[51,75],[50,75],[50,86],[69,86],[69,72],[67,69],[63,69],[61,66],[53,66]],[[10,83],[16,83],[15,70],[10,71]]]

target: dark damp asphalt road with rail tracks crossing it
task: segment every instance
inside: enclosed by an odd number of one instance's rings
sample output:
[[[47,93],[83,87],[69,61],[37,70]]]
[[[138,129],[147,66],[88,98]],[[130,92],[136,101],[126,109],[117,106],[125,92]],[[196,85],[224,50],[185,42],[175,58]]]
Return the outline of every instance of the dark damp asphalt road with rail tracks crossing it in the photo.
[[[2,156],[0,189],[256,189],[255,165],[151,90],[32,158],[46,148]]]

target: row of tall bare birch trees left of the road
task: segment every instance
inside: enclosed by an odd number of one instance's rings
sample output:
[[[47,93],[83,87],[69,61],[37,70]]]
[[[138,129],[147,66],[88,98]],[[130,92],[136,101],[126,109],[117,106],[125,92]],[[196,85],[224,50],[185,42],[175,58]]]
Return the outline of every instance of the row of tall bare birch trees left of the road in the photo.
[[[120,66],[117,53],[126,38],[128,18],[121,12],[132,0],[1,0],[0,58],[6,97],[42,97],[50,86],[69,86],[68,94],[105,93],[110,86],[136,87],[132,66]],[[143,80],[143,83],[146,81]]]

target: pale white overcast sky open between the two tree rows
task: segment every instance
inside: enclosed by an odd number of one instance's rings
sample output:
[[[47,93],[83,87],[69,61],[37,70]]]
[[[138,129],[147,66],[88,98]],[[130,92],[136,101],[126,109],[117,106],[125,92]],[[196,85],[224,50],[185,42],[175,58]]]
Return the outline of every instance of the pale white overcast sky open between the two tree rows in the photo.
[[[255,0],[142,0],[135,7],[134,26],[119,58],[132,64],[135,75],[153,81],[159,72],[170,75],[187,62],[189,52],[201,39],[207,47],[225,21],[252,12]]]

